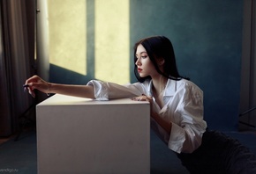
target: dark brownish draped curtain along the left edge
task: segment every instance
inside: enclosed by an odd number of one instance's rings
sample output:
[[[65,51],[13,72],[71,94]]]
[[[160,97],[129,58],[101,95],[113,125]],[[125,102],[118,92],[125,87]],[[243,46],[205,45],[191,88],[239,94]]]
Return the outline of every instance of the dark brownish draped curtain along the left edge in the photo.
[[[19,131],[36,102],[22,88],[34,69],[35,0],[0,1],[0,136]]]

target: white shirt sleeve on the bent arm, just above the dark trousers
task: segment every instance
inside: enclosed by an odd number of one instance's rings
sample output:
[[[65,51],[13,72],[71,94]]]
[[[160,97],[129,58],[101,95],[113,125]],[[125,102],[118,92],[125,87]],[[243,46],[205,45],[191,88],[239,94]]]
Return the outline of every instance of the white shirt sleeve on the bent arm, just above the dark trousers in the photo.
[[[193,83],[184,83],[184,86],[177,90],[174,100],[177,100],[174,117],[180,120],[178,123],[172,122],[169,149],[177,153],[192,153],[200,147],[202,135],[207,127],[203,120],[203,92]]]

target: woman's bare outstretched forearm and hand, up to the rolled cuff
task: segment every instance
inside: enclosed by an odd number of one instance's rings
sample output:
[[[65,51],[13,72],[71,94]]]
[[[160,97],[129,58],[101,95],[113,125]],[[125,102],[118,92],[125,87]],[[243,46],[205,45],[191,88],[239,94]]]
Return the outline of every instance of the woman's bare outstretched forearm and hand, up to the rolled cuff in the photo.
[[[28,92],[35,97],[34,90],[44,93],[58,93],[80,98],[94,98],[94,87],[90,85],[73,85],[48,83],[40,76],[32,76],[26,80]]]

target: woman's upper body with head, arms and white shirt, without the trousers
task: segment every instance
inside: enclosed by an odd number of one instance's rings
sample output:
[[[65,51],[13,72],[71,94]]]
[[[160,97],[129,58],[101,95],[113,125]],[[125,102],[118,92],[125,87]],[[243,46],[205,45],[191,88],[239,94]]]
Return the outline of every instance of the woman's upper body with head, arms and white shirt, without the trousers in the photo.
[[[132,98],[151,104],[151,125],[169,149],[192,153],[201,144],[207,123],[203,120],[203,92],[178,74],[175,54],[164,36],[139,40],[134,47],[138,83],[118,85],[92,80],[87,85],[47,83],[39,76],[26,80],[29,93],[59,93],[97,100]]]

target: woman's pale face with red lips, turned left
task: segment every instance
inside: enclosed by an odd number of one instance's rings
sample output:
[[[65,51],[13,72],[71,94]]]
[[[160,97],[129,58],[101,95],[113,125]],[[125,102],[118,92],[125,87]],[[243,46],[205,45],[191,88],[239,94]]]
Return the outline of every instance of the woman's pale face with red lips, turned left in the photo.
[[[135,62],[135,64],[137,65],[140,77],[154,77],[156,75],[159,75],[154,68],[153,62],[151,62],[151,60],[149,59],[146,49],[141,44],[139,44],[139,46],[137,47],[136,57],[137,61]]]

